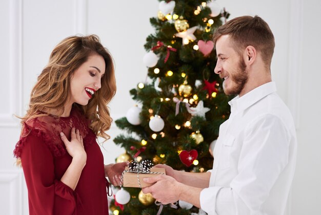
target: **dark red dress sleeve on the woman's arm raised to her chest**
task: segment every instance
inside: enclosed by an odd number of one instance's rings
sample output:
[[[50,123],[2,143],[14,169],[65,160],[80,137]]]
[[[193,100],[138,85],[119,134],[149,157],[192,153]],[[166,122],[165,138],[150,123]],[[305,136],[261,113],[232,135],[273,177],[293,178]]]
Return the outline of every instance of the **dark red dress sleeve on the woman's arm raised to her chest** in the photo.
[[[15,156],[22,161],[30,214],[76,214],[76,205],[81,202],[76,192],[55,180],[54,157],[43,138],[30,132],[18,143],[23,150]]]

